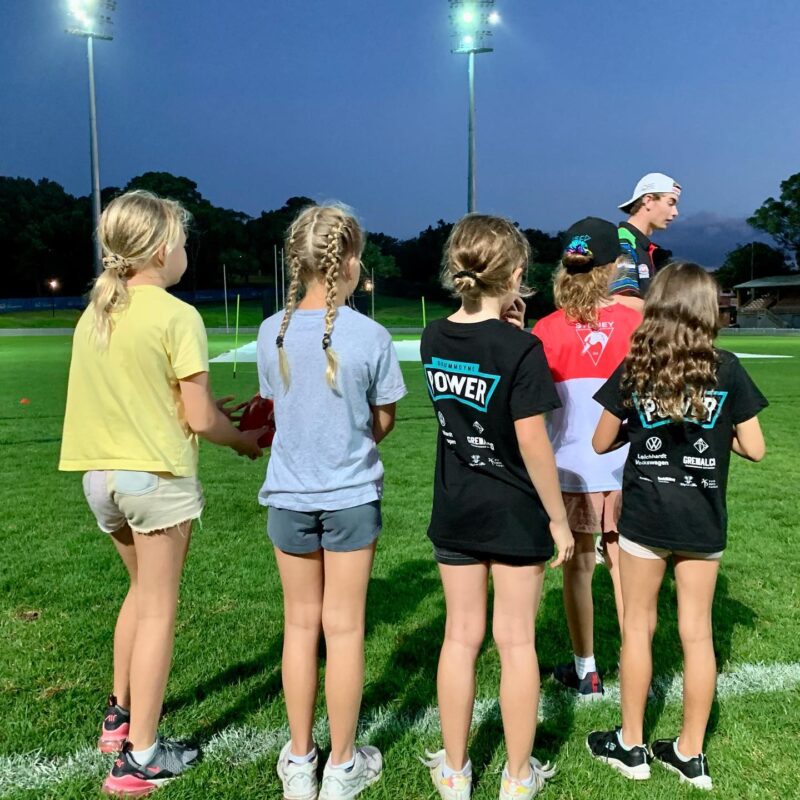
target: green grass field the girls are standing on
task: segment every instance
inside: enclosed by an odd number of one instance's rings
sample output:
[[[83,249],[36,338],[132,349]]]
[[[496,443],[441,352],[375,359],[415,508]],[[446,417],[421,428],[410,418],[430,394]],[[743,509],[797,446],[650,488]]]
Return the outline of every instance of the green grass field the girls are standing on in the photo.
[[[0,501],[6,511],[0,519],[0,769],[5,767],[6,773],[0,794],[25,800],[98,796],[106,760],[96,762],[94,771],[24,790],[15,788],[22,784],[13,780],[4,758],[33,751],[45,758],[63,757],[94,744],[110,690],[113,624],[126,582],[110,542],[96,530],[86,508],[79,476],[55,470],[69,339],[0,341]],[[230,349],[232,341],[232,336],[212,337],[212,355]],[[731,337],[721,345],[795,357],[745,362],[771,406],[761,417],[767,459],[759,465],[735,459],[732,468],[729,549],[714,609],[719,668],[731,672],[752,662],[800,661],[792,555],[800,477],[794,407],[800,341]],[[423,747],[441,746],[435,719],[425,716],[436,703],[435,669],[444,622],[441,588],[425,536],[436,424],[421,370],[406,364],[404,373],[410,394],[399,405],[396,430],[381,445],[387,473],[384,533],[370,587],[362,712],[373,722],[385,714],[385,724],[370,726],[369,738],[382,748],[386,770],[364,796],[393,800],[434,796],[427,770],[415,757]],[[239,365],[235,380],[230,364],[214,365],[212,381],[218,395],[249,397],[257,388],[255,365]],[[20,405],[22,397],[30,404]],[[271,736],[271,750],[249,760],[236,741],[228,751],[220,745],[207,763],[161,790],[165,800],[279,796],[274,763],[283,734],[275,732],[286,724],[279,669],[282,606],[264,535],[265,515],[255,502],[265,465],[202,447],[208,505],[184,574],[163,730],[200,741],[216,737],[218,743],[223,734],[249,731],[240,741]],[[619,643],[610,583],[602,570],[595,582],[597,658],[601,668],[613,672]],[[546,576],[537,648],[543,675],[570,655],[556,571]],[[655,671],[670,676],[680,669],[674,586],[668,579],[655,639]],[[497,652],[487,638],[479,661],[478,698],[496,697],[498,671]],[[585,734],[616,724],[617,708],[611,703],[576,707],[549,680],[543,682],[543,691],[548,702],[535,752],[559,767],[544,796],[694,796],[663,770],[654,768],[649,783],[635,785],[593,763],[583,744]],[[795,688],[717,701],[707,752],[718,794],[796,796],[798,699]],[[320,715],[323,707],[321,701]],[[418,724],[410,725],[413,720]],[[659,699],[650,705],[651,738],[676,734],[679,722],[679,705]],[[263,741],[261,745],[263,752]],[[474,797],[496,797],[504,761],[496,712],[490,710],[477,721],[470,752]],[[29,762],[30,756],[21,763]]]

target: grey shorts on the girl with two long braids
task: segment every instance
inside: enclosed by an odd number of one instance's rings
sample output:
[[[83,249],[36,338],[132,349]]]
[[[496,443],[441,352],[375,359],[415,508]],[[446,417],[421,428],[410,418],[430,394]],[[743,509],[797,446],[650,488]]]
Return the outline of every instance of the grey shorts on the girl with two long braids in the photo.
[[[303,555],[320,548],[349,553],[371,545],[381,532],[381,502],[338,511],[290,511],[270,507],[267,536],[284,553]]]

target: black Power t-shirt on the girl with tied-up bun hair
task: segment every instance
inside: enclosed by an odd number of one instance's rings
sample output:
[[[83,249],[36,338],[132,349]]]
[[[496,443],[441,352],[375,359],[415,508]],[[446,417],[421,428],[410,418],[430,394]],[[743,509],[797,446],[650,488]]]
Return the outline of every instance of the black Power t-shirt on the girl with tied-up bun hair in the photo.
[[[528,477],[514,421],[558,408],[544,348],[500,320],[428,325],[420,344],[439,421],[434,544],[547,559],[549,518]]]

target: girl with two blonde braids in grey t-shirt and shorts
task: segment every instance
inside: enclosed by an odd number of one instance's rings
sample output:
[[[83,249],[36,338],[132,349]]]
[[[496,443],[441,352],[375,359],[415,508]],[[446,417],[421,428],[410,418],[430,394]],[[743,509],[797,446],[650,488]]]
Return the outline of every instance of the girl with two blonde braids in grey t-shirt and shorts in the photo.
[[[291,740],[278,774],[284,797],[316,797],[317,640],[327,646],[331,754],[319,797],[354,797],[378,780],[375,747],[355,748],[364,680],[364,609],[381,529],[377,444],[406,394],[385,328],[348,308],[364,236],[337,206],[311,206],[289,228],[286,308],[258,334],[262,397],[276,434],[259,502],[269,507],[284,594],[283,688]],[[302,299],[300,297],[302,296]],[[358,635],[353,635],[354,627]]]

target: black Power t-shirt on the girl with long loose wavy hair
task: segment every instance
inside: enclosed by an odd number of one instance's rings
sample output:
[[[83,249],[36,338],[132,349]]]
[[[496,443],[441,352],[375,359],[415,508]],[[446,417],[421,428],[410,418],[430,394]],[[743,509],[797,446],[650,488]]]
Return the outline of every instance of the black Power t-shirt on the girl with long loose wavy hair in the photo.
[[[715,352],[717,386],[705,394],[703,421],[673,422],[646,397],[626,408],[620,391],[624,364],[594,396],[628,421],[618,528],[634,542],[696,553],[725,548],[733,426],[756,416],[767,400],[733,353]]]

